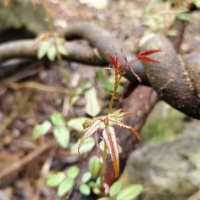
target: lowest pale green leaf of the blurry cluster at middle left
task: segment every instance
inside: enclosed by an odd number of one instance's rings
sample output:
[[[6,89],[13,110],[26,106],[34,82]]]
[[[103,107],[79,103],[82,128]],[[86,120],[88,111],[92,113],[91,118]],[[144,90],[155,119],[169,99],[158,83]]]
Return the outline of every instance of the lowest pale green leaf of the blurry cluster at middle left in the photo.
[[[60,127],[55,127],[53,130],[54,137],[56,138],[58,144],[63,147],[67,148],[69,145],[69,130],[67,127],[60,126]]]

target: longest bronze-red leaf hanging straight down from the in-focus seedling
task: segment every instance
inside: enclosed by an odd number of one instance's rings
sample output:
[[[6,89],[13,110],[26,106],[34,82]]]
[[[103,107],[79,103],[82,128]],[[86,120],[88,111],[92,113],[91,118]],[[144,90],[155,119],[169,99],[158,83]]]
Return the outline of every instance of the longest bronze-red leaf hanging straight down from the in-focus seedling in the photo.
[[[112,158],[115,178],[119,177],[119,148],[115,129],[111,126],[106,126],[103,130],[103,140],[108,148]]]

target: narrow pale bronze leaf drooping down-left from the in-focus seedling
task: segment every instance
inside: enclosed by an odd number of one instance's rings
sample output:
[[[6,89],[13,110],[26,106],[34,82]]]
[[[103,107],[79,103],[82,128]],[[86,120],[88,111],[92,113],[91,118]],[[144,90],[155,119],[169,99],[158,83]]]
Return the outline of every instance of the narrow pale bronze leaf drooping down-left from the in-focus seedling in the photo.
[[[78,152],[80,154],[80,148],[81,145],[83,144],[83,142],[89,138],[90,136],[94,135],[97,132],[97,129],[99,128],[98,126],[100,125],[101,121],[100,120],[96,120],[89,128],[88,130],[85,132],[84,136],[81,138],[80,144],[78,146]],[[87,127],[88,124],[85,124],[85,126]]]

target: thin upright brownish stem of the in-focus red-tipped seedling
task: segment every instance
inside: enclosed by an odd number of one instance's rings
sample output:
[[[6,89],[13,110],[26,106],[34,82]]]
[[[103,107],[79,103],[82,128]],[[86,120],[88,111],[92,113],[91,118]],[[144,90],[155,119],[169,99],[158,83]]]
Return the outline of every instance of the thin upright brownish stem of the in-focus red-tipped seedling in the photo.
[[[119,80],[120,80],[119,77],[118,77],[119,70],[120,70],[119,67],[116,66],[116,70],[115,70],[115,86],[114,86],[114,90],[113,90],[112,97],[111,97],[110,104],[109,104],[108,115],[112,112],[113,102],[114,102],[114,99],[115,99],[115,96],[116,96],[116,93],[117,93],[117,88],[118,88],[118,85],[119,85]],[[109,126],[109,122],[106,124],[106,126]],[[103,164],[101,166],[101,174],[100,174],[101,186],[103,185],[103,182],[104,182],[104,173],[105,173],[105,169],[106,169],[106,160],[107,160],[107,147],[106,147],[106,145],[104,145]]]

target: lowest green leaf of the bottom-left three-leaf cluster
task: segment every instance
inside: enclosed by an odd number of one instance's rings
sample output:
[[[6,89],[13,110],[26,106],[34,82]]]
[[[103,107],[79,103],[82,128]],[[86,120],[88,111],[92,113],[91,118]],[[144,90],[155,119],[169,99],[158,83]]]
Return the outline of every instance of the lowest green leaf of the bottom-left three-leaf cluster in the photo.
[[[58,187],[58,196],[63,197],[67,194],[72,188],[74,187],[74,180],[73,179],[66,179],[64,180]]]

